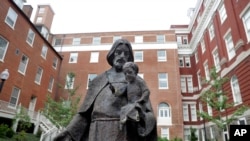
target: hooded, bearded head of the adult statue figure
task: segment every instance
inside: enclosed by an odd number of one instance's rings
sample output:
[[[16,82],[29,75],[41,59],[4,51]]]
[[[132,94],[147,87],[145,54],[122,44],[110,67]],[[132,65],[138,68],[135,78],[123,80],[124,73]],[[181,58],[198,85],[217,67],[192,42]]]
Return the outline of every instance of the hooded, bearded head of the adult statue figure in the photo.
[[[126,62],[134,61],[131,44],[126,39],[116,40],[107,55],[107,61],[112,67],[122,70]]]

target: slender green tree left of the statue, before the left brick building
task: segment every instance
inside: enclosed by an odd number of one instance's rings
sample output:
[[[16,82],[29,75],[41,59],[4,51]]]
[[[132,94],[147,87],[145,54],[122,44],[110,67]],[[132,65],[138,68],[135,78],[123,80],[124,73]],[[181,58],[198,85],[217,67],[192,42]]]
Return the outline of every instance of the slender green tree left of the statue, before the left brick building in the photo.
[[[47,95],[43,114],[57,127],[66,127],[77,113],[80,97],[75,97],[79,86],[71,89],[74,77],[75,74],[73,72],[68,73],[69,79],[66,80],[67,99],[60,98],[59,101],[56,101],[50,95]]]

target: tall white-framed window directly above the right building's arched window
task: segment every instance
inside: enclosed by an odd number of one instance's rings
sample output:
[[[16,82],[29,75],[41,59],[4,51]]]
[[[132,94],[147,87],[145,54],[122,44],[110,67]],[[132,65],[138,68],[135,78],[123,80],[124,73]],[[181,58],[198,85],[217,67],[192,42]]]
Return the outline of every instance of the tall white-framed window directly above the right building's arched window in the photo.
[[[227,47],[228,59],[231,60],[235,56],[234,43],[231,33],[227,34],[224,40]]]

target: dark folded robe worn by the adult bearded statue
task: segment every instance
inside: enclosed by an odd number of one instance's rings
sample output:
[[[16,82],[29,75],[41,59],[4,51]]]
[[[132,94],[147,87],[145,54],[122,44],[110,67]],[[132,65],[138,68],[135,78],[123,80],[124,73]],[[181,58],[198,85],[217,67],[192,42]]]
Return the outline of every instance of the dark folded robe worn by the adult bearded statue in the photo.
[[[74,141],[157,141],[156,120],[149,100],[141,108],[132,109],[141,111],[139,122],[127,122],[124,130],[119,129],[121,107],[127,104],[127,99],[115,96],[109,85],[123,87],[126,82],[109,82],[107,73],[91,81],[78,114],[66,128],[71,138]],[[142,89],[149,92],[146,85]]]

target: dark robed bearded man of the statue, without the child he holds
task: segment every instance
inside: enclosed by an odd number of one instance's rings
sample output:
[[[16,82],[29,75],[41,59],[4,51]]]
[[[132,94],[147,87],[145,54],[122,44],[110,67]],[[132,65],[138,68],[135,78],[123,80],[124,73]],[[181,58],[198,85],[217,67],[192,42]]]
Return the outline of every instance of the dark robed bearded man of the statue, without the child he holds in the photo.
[[[107,54],[107,61],[112,66],[109,70],[94,78],[87,91],[78,114],[74,116],[66,130],[58,134],[54,141],[156,141],[156,119],[149,97],[138,105],[130,107],[125,117],[126,128],[120,130],[122,107],[128,105],[127,94],[117,96],[115,90],[129,93],[123,73],[123,65],[133,62],[131,44],[125,39],[118,39]],[[143,91],[149,90],[143,83]],[[133,113],[138,113],[138,120],[129,120]]]

